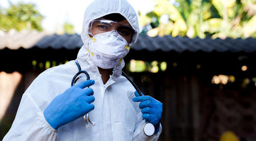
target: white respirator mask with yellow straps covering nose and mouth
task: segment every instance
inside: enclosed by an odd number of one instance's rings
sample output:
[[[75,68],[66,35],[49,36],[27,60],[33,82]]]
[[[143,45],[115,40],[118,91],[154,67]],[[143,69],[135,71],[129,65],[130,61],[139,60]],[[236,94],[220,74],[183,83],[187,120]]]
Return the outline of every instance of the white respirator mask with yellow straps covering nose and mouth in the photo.
[[[117,31],[96,34],[91,38],[88,48],[94,64],[104,69],[115,67],[130,49]]]

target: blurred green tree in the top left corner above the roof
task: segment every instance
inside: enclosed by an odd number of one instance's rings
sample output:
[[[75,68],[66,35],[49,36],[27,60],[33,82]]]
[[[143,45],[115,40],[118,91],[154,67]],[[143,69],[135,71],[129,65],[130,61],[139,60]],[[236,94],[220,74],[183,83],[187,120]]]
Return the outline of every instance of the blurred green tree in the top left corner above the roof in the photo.
[[[34,4],[18,3],[14,5],[10,2],[10,7],[0,9],[0,30],[9,31],[16,29],[35,29],[42,31],[41,20],[43,16],[36,10]]]

